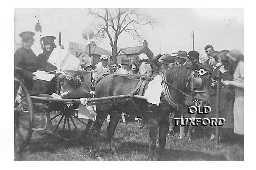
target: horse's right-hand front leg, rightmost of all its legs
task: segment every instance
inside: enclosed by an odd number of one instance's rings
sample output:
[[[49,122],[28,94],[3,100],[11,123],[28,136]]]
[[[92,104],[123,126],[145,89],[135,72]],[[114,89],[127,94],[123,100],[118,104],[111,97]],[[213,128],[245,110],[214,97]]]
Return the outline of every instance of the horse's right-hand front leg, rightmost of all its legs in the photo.
[[[168,117],[164,119],[163,121],[159,122],[159,153],[158,153],[158,161],[163,160],[163,155],[164,155],[164,149],[166,145],[166,135],[169,130],[169,122],[168,122]]]

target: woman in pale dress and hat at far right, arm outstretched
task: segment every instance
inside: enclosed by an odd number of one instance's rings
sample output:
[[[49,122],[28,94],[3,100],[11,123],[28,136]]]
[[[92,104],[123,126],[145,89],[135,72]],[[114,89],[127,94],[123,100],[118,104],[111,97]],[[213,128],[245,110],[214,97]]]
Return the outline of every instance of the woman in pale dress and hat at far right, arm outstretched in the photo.
[[[244,55],[236,49],[227,53],[230,63],[234,67],[233,81],[224,80],[223,85],[235,88],[234,103],[234,133],[244,135]]]

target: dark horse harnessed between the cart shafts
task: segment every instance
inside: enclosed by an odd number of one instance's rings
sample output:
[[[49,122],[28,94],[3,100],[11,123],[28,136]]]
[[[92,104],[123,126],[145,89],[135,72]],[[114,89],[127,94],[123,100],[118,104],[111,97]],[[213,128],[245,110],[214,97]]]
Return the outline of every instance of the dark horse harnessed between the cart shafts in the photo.
[[[184,65],[176,68],[170,68],[166,71],[166,81],[169,88],[170,94],[176,102],[179,103],[179,106],[183,103],[185,97],[180,91],[190,94],[191,87],[189,77],[192,73],[192,68]],[[108,75],[104,77],[95,88],[95,97],[104,97],[104,96],[115,96],[122,94],[132,94],[137,87],[140,79],[133,79],[129,77],[117,76],[117,75]],[[198,88],[199,91],[208,92],[209,79],[202,79],[202,85]],[[180,91],[178,91],[177,89]],[[203,96],[203,98],[208,99],[209,95],[207,93],[197,94],[197,96]],[[200,98],[200,97],[198,97]],[[165,97],[160,98],[160,105],[153,105],[142,99],[133,99],[132,101],[122,101],[119,102],[116,100],[112,103],[103,103],[96,105],[97,118],[92,127],[93,134],[93,150],[98,149],[98,138],[100,134],[100,128],[104,122],[106,116],[110,114],[111,119],[107,127],[108,139],[111,144],[111,150],[116,152],[116,146],[113,140],[113,135],[116,129],[116,126],[120,119],[120,114],[122,112],[128,113],[130,115],[136,115],[140,113],[143,115],[144,119],[148,122],[149,129],[149,154],[148,160],[153,160],[156,147],[156,138],[157,138],[157,128],[159,127],[159,146],[160,152],[158,154],[158,160],[162,160],[162,156],[165,145],[166,145],[166,135],[168,133],[169,122],[168,116],[169,113],[175,111],[177,108],[172,107],[168,104]]]

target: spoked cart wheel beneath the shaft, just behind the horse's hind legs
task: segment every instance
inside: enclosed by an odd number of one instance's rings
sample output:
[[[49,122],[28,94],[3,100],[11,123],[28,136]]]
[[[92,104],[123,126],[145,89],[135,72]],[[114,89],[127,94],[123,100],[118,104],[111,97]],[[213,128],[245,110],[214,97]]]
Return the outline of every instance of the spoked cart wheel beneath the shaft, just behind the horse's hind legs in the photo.
[[[47,128],[66,141],[73,141],[90,130],[92,120],[78,117],[72,109],[66,107],[62,112],[47,113]]]

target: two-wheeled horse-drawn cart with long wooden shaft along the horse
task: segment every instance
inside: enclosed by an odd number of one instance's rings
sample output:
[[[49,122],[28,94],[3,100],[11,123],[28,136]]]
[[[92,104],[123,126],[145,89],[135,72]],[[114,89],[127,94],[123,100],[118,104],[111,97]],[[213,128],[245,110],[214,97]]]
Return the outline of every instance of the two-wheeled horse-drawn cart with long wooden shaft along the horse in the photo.
[[[90,105],[118,103],[132,98],[145,99],[139,95],[117,95],[92,98],[91,72],[66,71],[56,76],[55,96],[28,91],[22,81],[15,78],[15,153],[23,150],[34,130],[47,130],[66,141],[76,140],[90,130],[91,119],[79,115],[81,98]],[[40,86],[45,81],[38,80]],[[34,84],[35,86],[35,84]],[[61,97],[60,97],[61,96]],[[79,117],[80,116],[80,117]]]

